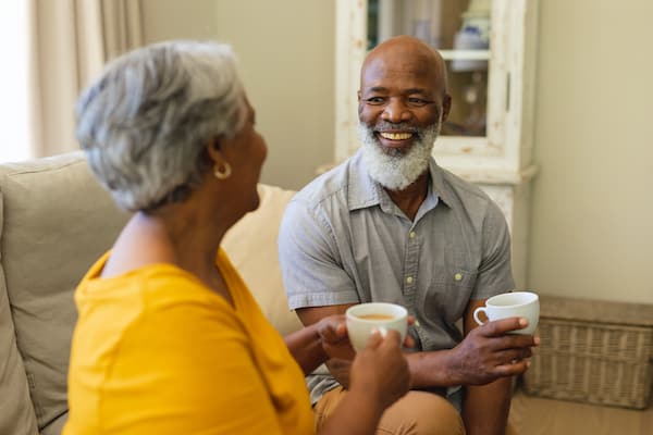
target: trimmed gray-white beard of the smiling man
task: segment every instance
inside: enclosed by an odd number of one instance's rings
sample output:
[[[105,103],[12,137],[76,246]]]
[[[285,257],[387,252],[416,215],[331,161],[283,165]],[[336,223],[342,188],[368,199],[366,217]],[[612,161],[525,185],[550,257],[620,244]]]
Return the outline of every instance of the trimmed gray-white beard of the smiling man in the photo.
[[[440,133],[440,122],[417,130],[418,139],[408,152],[386,153],[372,127],[358,123],[358,137],[362,144],[362,161],[370,177],[390,190],[403,190],[427,171],[433,142]]]

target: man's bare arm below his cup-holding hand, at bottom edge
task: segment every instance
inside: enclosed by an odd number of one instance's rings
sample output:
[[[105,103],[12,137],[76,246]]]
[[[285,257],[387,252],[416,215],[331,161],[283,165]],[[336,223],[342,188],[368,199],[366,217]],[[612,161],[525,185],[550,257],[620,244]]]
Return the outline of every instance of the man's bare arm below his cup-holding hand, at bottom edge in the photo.
[[[466,387],[463,420],[467,435],[505,435],[512,387],[512,377],[488,385]]]

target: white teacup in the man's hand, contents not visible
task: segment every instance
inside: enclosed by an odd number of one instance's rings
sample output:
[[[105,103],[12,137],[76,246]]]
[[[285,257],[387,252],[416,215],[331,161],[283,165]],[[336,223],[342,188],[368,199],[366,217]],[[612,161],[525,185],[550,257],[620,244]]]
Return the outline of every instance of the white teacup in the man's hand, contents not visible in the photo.
[[[504,293],[488,299],[485,307],[479,307],[473,310],[473,320],[479,325],[482,325],[483,322],[479,319],[480,313],[484,313],[490,321],[506,318],[526,318],[528,326],[523,330],[512,331],[510,333],[532,335],[540,320],[540,298],[532,291]]]

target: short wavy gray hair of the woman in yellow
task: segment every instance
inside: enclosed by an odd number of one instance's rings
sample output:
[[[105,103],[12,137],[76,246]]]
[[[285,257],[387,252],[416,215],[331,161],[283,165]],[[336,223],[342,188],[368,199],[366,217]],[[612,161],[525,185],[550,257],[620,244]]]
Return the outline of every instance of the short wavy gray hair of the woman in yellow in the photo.
[[[169,41],[107,65],[77,101],[77,139],[118,204],[150,211],[185,199],[210,167],[206,147],[246,121],[230,46]]]

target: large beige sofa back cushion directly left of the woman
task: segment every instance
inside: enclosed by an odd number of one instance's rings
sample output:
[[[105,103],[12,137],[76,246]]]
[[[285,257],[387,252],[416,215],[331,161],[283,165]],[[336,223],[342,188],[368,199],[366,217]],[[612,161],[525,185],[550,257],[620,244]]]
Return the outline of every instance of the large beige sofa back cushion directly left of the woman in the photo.
[[[1,265],[40,430],[67,410],[74,288],[128,216],[95,181],[82,152],[3,164],[0,189]]]

